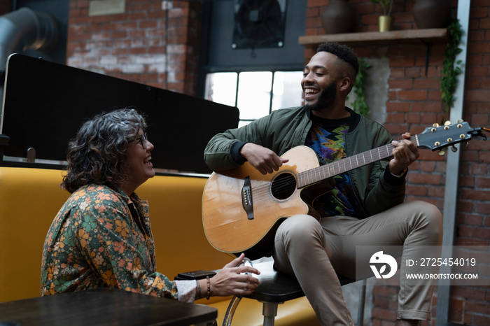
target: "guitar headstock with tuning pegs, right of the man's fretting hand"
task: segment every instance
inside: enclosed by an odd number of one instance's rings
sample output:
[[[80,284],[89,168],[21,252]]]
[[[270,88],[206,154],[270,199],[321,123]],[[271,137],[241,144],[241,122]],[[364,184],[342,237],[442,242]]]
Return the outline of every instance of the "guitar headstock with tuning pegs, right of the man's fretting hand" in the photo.
[[[483,128],[487,130],[486,128]],[[428,148],[430,150],[440,150],[439,154],[444,155],[443,148],[452,146],[451,150],[456,152],[456,143],[465,142],[466,144],[473,136],[481,136],[486,140],[482,128],[471,128],[468,122],[458,120],[456,124],[447,121],[443,126],[434,124],[433,127],[427,127],[416,136],[417,146]]]

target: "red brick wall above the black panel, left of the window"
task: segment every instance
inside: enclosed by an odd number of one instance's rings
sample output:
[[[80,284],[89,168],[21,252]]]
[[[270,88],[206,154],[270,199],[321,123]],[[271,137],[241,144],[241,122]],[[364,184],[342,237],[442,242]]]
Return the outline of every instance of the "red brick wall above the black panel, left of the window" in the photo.
[[[89,16],[70,0],[69,66],[195,95],[199,1],[126,1],[125,13]]]

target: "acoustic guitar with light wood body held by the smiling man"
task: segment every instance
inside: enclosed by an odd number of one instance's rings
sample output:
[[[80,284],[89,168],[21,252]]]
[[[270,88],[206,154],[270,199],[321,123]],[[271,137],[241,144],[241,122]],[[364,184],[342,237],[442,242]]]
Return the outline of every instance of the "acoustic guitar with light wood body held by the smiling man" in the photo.
[[[489,129],[484,130],[488,131]],[[472,129],[467,122],[427,127],[412,136],[418,148],[441,150],[447,146],[482,136],[482,128]],[[214,172],[202,198],[202,223],[211,246],[225,253],[255,259],[272,253],[274,234],[289,216],[307,214],[310,206],[303,190],[322,180],[360,166],[391,157],[391,143],[320,166],[316,153],[298,146],[282,155],[289,160],[279,171],[262,175],[245,162],[236,169]]]

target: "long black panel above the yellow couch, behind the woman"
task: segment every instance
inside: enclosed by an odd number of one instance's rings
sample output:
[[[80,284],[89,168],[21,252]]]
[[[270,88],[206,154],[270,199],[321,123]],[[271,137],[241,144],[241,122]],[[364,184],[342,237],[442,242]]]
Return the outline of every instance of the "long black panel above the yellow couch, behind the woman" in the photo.
[[[188,95],[104,76],[62,64],[12,55],[8,60],[2,133],[5,155],[65,160],[66,145],[101,111],[134,106],[148,116],[148,139],[157,169],[209,173],[204,147],[237,127],[238,109]]]

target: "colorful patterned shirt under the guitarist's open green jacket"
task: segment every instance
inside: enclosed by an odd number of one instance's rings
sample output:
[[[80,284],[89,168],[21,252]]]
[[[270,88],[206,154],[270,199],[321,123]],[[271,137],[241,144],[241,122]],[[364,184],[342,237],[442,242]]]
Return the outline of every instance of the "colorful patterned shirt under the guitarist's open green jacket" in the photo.
[[[350,117],[328,120],[311,115],[313,125],[309,130],[306,146],[313,149],[323,164],[328,164],[346,157],[345,134],[349,132]],[[356,216],[352,206],[352,184],[349,173],[333,177],[335,187],[314,199],[312,205],[322,217],[342,215]]]

